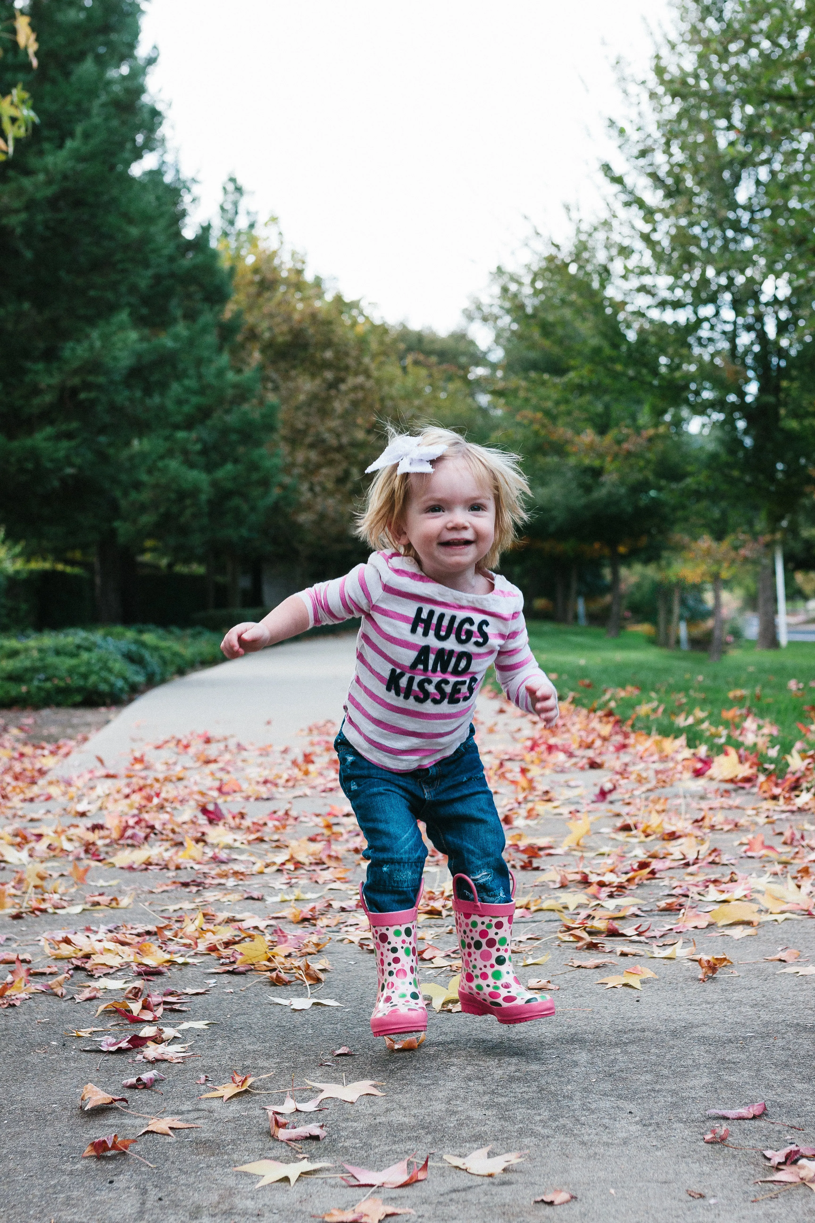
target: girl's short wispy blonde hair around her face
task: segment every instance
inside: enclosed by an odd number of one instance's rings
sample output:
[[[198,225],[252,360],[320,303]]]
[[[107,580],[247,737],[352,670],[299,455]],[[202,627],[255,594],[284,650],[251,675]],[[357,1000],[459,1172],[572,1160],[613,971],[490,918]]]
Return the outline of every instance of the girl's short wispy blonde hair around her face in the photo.
[[[389,440],[396,437],[390,430]],[[479,569],[496,569],[501,553],[510,548],[516,538],[516,527],[529,517],[524,498],[529,495],[529,484],[521,471],[518,455],[491,446],[479,446],[468,442],[452,429],[429,426],[418,434],[423,446],[445,445],[447,449],[440,459],[463,459],[475,478],[483,482],[495,498],[495,539],[486,556],[479,561]],[[365,503],[357,519],[357,534],[370,548],[396,549],[406,556],[418,560],[411,543],[398,544],[393,531],[398,530],[404,510],[411,498],[411,476],[397,476],[396,464],[384,467],[373,479],[365,495]]]

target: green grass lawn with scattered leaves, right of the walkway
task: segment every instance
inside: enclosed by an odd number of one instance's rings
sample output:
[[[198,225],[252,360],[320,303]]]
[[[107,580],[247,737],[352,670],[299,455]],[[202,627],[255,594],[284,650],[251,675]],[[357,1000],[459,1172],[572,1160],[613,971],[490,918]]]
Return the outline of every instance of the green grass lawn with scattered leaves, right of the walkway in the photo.
[[[786,649],[770,651],[744,642],[711,663],[707,654],[696,651],[660,649],[639,632],[623,631],[612,640],[602,629],[546,620],[528,621],[527,627],[535,657],[555,680],[561,700],[573,693],[579,704],[596,703],[598,708],[613,701],[623,720],[639,711],[634,720],[638,730],[684,733],[692,747],[706,742],[716,755],[721,744],[740,746],[732,734],[723,736],[742,718],[728,722],[722,711],[749,708],[756,718],[778,726],[770,744],[781,744],[776,757],[780,772],[786,770],[783,756],[798,740],[806,741],[797,723],[809,726],[814,720],[805,707],[815,706],[815,643],[791,642]],[[590,686],[582,686],[580,680]],[[791,680],[803,684],[797,696],[787,686]],[[640,692],[626,696],[626,687],[639,687]],[[692,715],[693,724],[677,726],[677,715]]]

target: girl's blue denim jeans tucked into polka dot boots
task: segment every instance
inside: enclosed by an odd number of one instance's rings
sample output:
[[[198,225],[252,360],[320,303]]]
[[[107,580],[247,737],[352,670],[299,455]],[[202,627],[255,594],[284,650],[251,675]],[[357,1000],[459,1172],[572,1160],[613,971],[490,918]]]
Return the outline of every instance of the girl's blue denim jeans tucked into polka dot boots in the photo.
[[[480,900],[508,904],[510,872],[501,856],[506,844],[492,793],[470,726],[469,739],[430,768],[391,773],[360,756],[346,736],[334,741],[340,757],[340,785],[368,841],[363,888],[371,912],[412,909],[428,850],[417,824],[447,855],[452,874],[468,874]],[[473,900],[466,884],[462,900]]]

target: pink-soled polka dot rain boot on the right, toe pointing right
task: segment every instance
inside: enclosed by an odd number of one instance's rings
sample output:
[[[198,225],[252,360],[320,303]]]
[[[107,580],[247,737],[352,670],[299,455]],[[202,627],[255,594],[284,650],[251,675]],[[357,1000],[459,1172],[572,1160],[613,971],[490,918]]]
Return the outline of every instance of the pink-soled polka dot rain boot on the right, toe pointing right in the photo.
[[[467,883],[475,900],[459,900],[458,879]],[[514,896],[514,876],[512,895]],[[462,953],[458,986],[461,1008],[468,1015],[495,1015],[499,1024],[525,1024],[555,1014],[547,994],[530,993],[521,985],[512,967],[512,918],[514,901],[508,905],[480,904],[478,892],[466,874],[453,879],[453,914]]]

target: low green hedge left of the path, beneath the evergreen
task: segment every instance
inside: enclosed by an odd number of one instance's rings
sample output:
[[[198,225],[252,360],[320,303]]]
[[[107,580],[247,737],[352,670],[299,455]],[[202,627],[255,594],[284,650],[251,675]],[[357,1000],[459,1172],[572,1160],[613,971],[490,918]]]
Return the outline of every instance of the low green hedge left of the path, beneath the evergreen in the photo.
[[[0,707],[120,704],[176,675],[224,662],[205,629],[66,629],[0,636]]]

